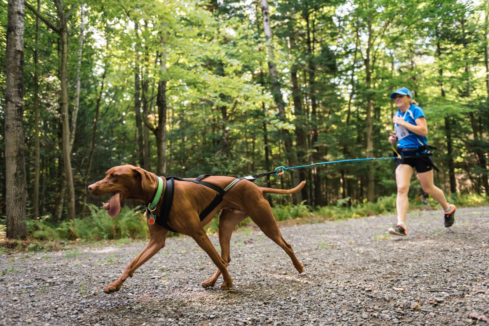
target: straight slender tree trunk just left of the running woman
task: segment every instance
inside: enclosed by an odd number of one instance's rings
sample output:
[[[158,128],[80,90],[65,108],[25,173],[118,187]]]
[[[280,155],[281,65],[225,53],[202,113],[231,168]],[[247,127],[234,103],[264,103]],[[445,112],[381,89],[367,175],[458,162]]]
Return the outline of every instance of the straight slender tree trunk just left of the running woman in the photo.
[[[371,4],[371,0],[369,3]],[[366,130],[365,137],[367,142],[367,158],[373,157],[374,150],[374,142],[372,137],[372,93],[371,93],[371,85],[372,85],[372,71],[370,67],[370,51],[372,50],[372,17],[368,18],[368,44],[367,44],[367,53],[365,58],[365,88],[367,89],[367,117],[365,120]],[[369,163],[368,171],[367,171],[367,200],[369,202],[375,201],[375,188],[374,188],[374,164]]]

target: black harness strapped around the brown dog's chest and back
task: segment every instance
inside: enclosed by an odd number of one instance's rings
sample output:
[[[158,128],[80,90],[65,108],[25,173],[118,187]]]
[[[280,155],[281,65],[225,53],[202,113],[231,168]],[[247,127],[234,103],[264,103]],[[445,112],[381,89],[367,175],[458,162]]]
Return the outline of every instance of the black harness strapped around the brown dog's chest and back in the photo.
[[[168,216],[170,214],[170,209],[172,208],[172,203],[173,203],[173,193],[175,191],[175,180],[178,181],[187,181],[187,182],[193,182],[193,183],[198,183],[201,185],[204,185],[208,188],[211,188],[212,190],[217,192],[216,197],[212,200],[212,202],[199,214],[200,221],[203,221],[207,215],[209,215],[214,208],[217,207],[217,205],[221,204],[223,196],[231,190],[232,187],[234,187],[237,183],[239,183],[241,180],[246,179],[246,177],[243,178],[236,178],[231,183],[229,183],[224,189],[221,189],[217,185],[214,185],[212,183],[208,183],[205,181],[201,181],[202,178],[209,177],[209,176],[214,176],[214,174],[202,174],[198,176],[195,180],[191,179],[183,179],[179,177],[166,177],[166,187],[165,187],[165,192],[163,195],[163,203],[161,204],[161,209],[160,209],[160,215],[157,216],[153,214],[149,209],[146,210],[146,215],[147,217],[154,218],[156,224],[159,224],[163,226],[164,228],[176,232],[174,229],[168,225]]]

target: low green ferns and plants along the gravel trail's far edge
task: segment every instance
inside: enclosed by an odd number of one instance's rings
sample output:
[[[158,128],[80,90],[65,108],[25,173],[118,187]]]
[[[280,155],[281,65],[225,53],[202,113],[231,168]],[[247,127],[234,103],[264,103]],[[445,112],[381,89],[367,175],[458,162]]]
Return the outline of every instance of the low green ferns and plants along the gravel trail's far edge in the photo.
[[[477,194],[454,195],[448,198],[448,201],[458,207],[489,205],[487,197]],[[293,221],[297,224],[395,214],[396,212],[395,194],[380,197],[376,203],[360,203],[351,207],[347,207],[346,203],[341,200],[336,205],[311,208],[302,202],[295,205],[276,205],[272,207],[272,211],[277,221]],[[108,216],[107,211],[103,208],[95,205],[88,205],[88,207],[91,215],[70,221],[60,223],[50,222],[48,219],[27,221],[28,241],[2,240],[0,255],[5,253],[5,247],[13,250],[50,251],[68,249],[72,245],[79,244],[124,245],[135,239],[149,238],[146,219],[139,207],[133,209],[122,207],[117,218]],[[440,205],[432,198],[429,198],[427,203],[422,203],[420,197],[410,199],[410,211],[426,209],[440,209]],[[219,219],[216,216],[211,223],[206,225],[207,234],[218,232],[218,224]],[[248,217],[239,223],[236,229],[249,230],[250,224],[252,221]],[[177,234],[169,233],[169,236],[175,235]]]

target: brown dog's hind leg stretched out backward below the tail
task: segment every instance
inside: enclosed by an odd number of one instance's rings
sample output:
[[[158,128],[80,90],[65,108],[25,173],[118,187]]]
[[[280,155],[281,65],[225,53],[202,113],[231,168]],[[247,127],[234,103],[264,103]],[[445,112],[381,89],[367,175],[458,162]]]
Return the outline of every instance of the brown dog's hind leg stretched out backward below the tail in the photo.
[[[299,273],[302,273],[304,271],[304,266],[297,259],[297,257],[295,257],[292,246],[282,237],[282,233],[280,233],[280,229],[278,228],[277,221],[273,216],[270,204],[268,204],[264,198],[261,198],[257,201],[257,203],[253,203],[252,205],[249,205],[249,207],[246,207],[245,210],[249,213],[249,216],[253,222],[260,227],[263,233],[265,233],[265,235],[274,243],[284,249],[292,260],[292,265],[294,265],[295,269],[297,269]]]

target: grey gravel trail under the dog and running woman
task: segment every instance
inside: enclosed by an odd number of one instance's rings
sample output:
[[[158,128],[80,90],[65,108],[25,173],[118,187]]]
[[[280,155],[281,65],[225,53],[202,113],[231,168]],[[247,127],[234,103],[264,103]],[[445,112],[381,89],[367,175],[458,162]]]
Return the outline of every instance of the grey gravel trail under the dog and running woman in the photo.
[[[189,237],[166,246],[107,295],[146,245],[0,256],[0,325],[489,325],[489,207],[281,226],[305,272],[257,231],[231,239],[232,291]],[[109,217],[108,217],[109,218]],[[210,237],[219,248],[217,236]]]

